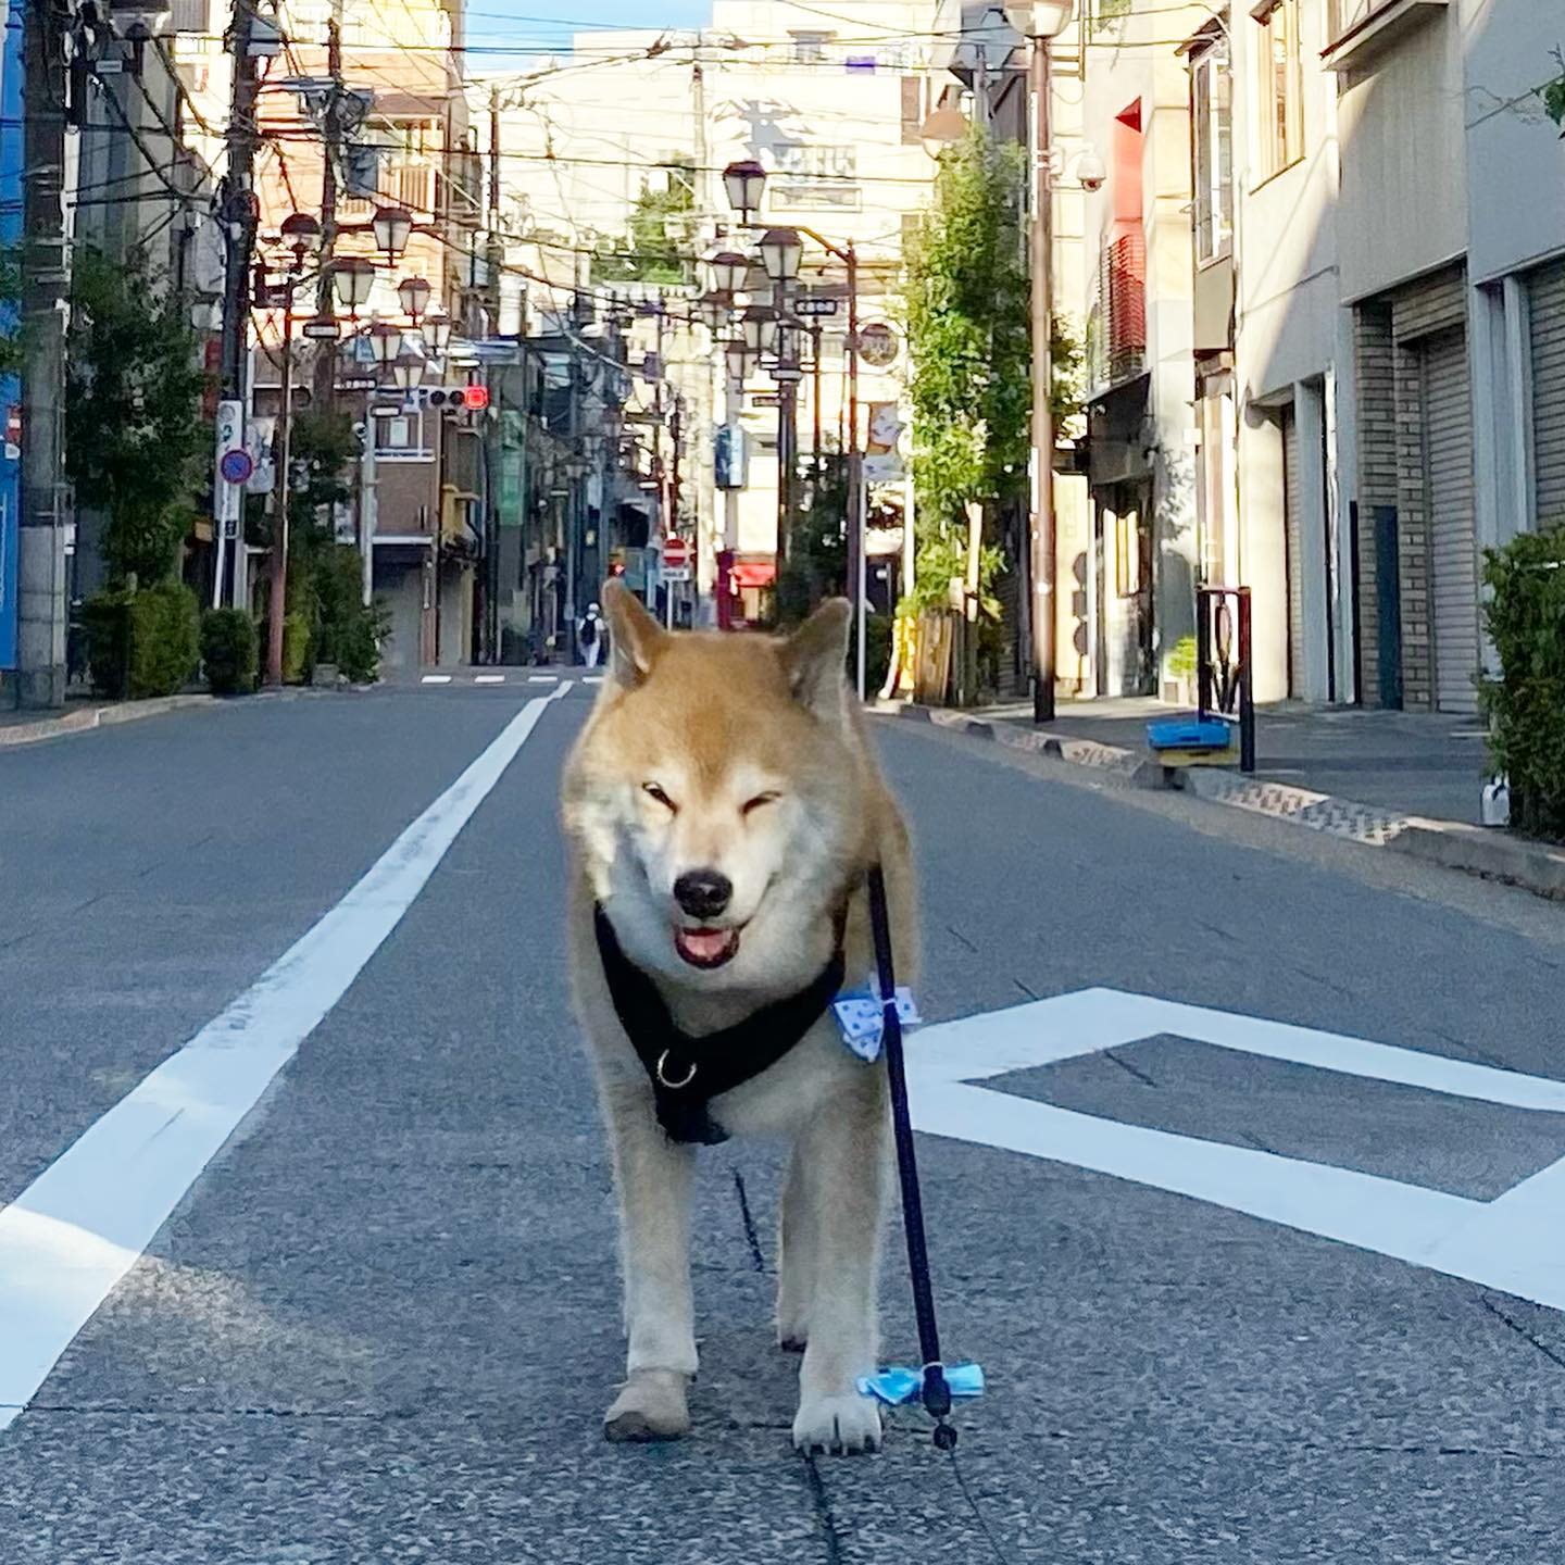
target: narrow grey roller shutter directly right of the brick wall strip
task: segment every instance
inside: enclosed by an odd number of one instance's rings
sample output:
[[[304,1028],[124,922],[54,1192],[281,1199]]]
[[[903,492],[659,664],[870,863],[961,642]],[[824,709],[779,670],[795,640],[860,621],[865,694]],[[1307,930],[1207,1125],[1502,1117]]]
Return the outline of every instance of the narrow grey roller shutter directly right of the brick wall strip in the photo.
[[[1429,505],[1435,706],[1477,709],[1477,559],[1473,535],[1473,407],[1466,333],[1441,332],[1423,351],[1424,482]]]

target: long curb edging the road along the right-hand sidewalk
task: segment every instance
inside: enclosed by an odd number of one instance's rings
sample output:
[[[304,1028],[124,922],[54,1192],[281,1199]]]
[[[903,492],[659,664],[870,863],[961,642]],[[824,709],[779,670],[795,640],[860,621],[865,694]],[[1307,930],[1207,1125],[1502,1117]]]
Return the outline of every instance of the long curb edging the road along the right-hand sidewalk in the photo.
[[[1266,778],[1247,778],[1218,767],[1174,770],[1117,745],[1019,728],[1014,723],[975,717],[972,712],[901,701],[881,701],[873,711],[991,739],[1008,750],[1025,750],[1070,765],[1108,772],[1131,787],[1178,789],[1211,804],[1286,820],[1363,847],[1390,848],[1393,853],[1405,853],[1426,864],[1504,881],[1538,897],[1565,901],[1565,848],[1549,847],[1545,842],[1531,842],[1526,837],[1457,820],[1401,815],[1383,806],[1360,804],[1355,800],[1316,793]]]

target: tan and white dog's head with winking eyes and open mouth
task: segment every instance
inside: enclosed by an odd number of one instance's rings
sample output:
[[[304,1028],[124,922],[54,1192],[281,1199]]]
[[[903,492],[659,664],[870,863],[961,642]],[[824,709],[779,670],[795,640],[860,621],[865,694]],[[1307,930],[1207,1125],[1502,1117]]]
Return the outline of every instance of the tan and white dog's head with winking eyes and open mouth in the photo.
[[[668,634],[618,585],[604,609],[609,676],[565,784],[593,895],[668,980],[808,981],[865,833],[848,606],[786,642]]]

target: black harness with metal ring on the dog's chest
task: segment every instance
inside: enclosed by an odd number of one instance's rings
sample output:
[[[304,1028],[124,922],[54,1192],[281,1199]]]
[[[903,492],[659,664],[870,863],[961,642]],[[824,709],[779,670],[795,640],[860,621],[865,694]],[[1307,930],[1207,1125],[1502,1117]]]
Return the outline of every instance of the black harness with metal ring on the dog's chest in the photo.
[[[707,1147],[728,1139],[728,1131],[712,1119],[707,1105],[714,1097],[770,1070],[836,1000],[845,975],[845,925],[844,906],[836,916],[837,937],[831,961],[798,994],[772,1000],[720,1033],[692,1038],[675,1024],[657,984],[624,955],[603,906],[593,908],[598,956],[609,983],[609,997],[653,1085],[657,1122],[670,1139]]]

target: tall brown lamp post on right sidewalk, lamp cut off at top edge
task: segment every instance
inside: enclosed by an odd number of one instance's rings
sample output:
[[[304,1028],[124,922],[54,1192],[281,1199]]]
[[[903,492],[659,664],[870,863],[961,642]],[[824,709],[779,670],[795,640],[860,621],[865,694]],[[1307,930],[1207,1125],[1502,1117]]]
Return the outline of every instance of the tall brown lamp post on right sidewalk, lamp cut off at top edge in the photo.
[[[1033,721],[1055,720],[1055,418],[1050,405],[1053,343],[1053,192],[1049,166],[1049,45],[1070,22],[1074,0],[1008,0],[1005,19],[1031,41],[1033,224],[1028,268],[1033,296],[1033,515],[1028,576],[1033,642]]]

